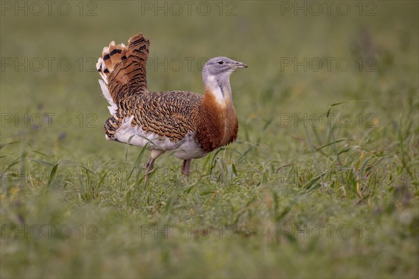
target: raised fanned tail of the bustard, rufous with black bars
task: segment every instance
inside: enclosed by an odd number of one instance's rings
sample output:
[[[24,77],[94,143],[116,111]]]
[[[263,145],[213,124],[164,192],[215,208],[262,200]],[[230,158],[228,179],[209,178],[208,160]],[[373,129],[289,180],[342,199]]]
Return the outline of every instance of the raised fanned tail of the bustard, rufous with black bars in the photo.
[[[148,92],[145,66],[149,45],[149,40],[139,33],[128,40],[128,46],[112,41],[109,47],[103,47],[96,68],[108,87],[110,96],[103,94],[111,106],[108,97],[117,104],[128,96]]]

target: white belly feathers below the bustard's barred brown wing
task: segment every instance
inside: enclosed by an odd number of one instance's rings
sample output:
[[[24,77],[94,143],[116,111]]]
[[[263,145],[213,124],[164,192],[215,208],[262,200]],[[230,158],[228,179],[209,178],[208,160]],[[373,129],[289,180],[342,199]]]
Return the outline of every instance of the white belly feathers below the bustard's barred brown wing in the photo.
[[[124,119],[122,125],[115,131],[115,137],[110,139],[106,135],[106,140],[117,140],[140,147],[147,146],[147,149],[172,151],[176,158],[182,160],[202,158],[207,155],[196,143],[195,133],[189,132],[182,140],[171,142],[168,137],[147,133],[138,126],[131,126],[133,117]]]

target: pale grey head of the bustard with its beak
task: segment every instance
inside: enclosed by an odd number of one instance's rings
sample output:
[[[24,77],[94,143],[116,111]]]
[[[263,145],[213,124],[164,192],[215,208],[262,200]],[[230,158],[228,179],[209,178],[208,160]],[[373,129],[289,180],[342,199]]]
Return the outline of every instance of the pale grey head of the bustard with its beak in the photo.
[[[247,65],[239,61],[234,61],[228,57],[214,57],[208,60],[203,68],[204,84],[215,80],[219,84],[228,82],[231,73],[237,68],[247,68]]]

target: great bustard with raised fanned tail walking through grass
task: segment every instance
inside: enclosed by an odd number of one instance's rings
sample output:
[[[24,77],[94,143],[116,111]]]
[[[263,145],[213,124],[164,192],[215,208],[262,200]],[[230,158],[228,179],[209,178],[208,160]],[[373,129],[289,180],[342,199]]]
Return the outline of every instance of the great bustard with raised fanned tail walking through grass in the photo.
[[[182,174],[189,178],[191,160],[234,142],[238,123],[230,88],[230,75],[246,64],[215,57],[205,63],[205,95],[188,91],[149,92],[146,63],[149,40],[139,33],[123,43],[104,47],[96,68],[103,96],[112,116],[105,122],[106,140],[146,146],[152,154],[146,179],[154,160],[172,151],[184,160]]]

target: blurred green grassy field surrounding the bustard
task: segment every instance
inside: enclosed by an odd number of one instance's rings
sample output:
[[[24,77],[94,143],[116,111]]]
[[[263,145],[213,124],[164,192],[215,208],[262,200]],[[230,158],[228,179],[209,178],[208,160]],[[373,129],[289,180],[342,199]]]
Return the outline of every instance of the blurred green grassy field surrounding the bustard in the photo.
[[[51,5],[51,6],[48,6]],[[418,278],[417,1],[1,1],[1,278]],[[107,142],[94,68],[151,40],[150,91],[231,77],[237,142]]]

